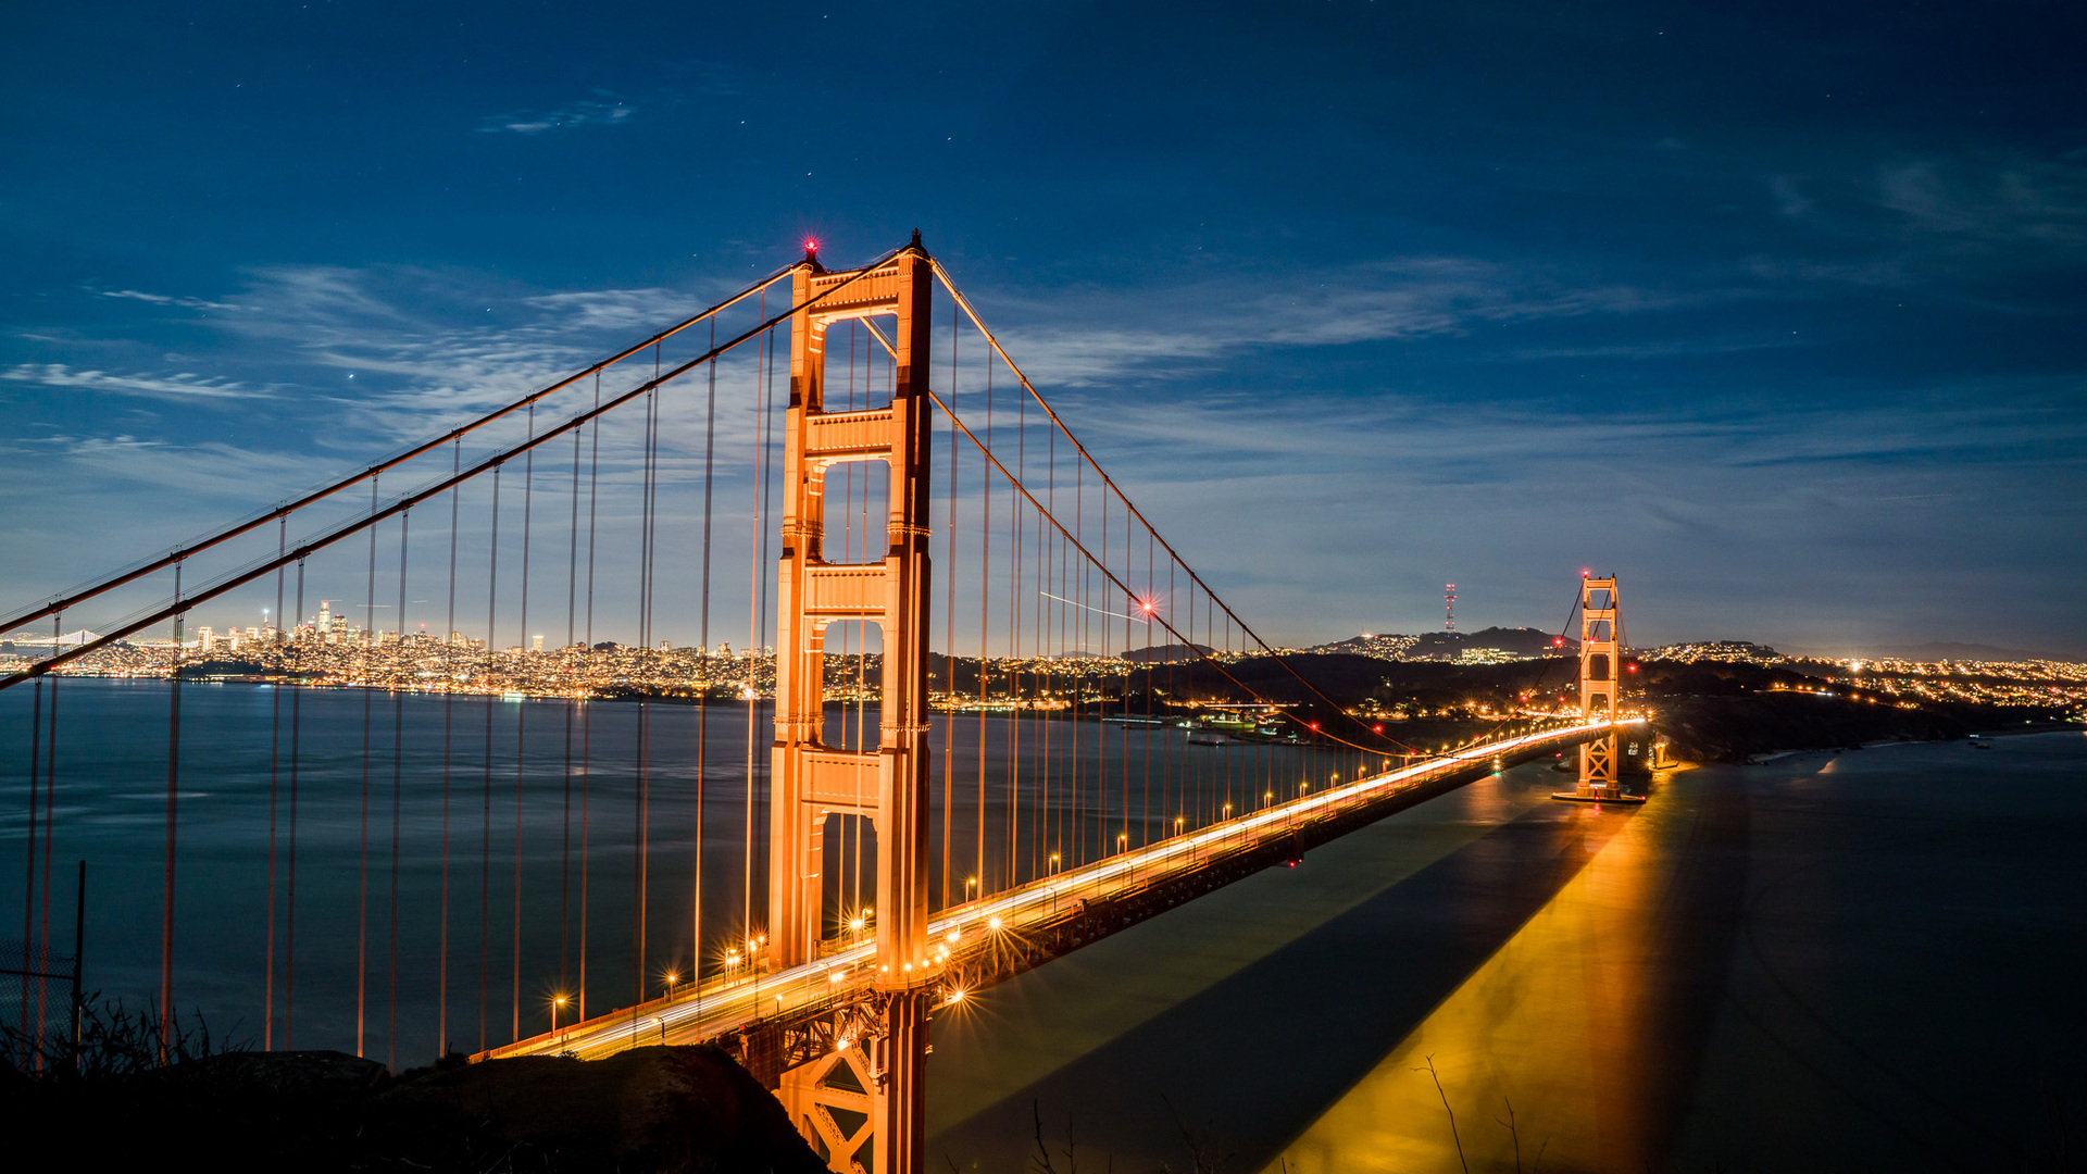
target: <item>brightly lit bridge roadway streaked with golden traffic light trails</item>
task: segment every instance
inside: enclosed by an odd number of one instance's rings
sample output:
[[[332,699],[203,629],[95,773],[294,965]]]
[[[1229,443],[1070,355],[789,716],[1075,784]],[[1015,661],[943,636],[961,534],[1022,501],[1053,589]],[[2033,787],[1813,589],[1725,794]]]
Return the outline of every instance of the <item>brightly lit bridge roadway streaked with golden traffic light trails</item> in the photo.
[[[1626,719],[1615,725],[1628,727],[1642,721]],[[1609,725],[1576,723],[1467,746],[1396,771],[1340,783],[1319,794],[1302,794],[1275,806],[1158,840],[1146,848],[1119,852],[1092,865],[1039,877],[987,898],[954,905],[929,923],[929,942],[937,953],[935,965],[920,976],[908,976],[908,986],[927,988],[943,1001],[960,1001],[977,986],[998,982],[1016,969],[1064,953],[1062,948],[1044,950],[1039,957],[1027,944],[1089,907],[1117,900],[1123,894],[1181,882],[1225,863],[1242,863],[1256,848],[1296,842],[1300,833],[1313,827],[1346,815],[1361,815],[1396,796],[1450,779],[1459,771],[1484,767],[1496,758],[1526,758],[1553,746],[1578,744],[1609,729]],[[1261,871],[1263,867],[1267,867],[1263,861],[1254,861],[1244,871]],[[1169,900],[1167,905],[1173,902]],[[1092,940],[1092,936],[1073,936],[1071,944],[1077,946],[1081,940]],[[770,973],[726,976],[724,980],[705,982],[701,988],[697,984],[680,984],[662,999],[490,1049],[472,1059],[513,1055],[601,1059],[630,1047],[662,1042],[693,1044],[735,1032],[803,1022],[877,988],[879,976],[870,973],[874,957],[877,944],[872,934],[866,932],[858,944],[829,953],[818,961]]]

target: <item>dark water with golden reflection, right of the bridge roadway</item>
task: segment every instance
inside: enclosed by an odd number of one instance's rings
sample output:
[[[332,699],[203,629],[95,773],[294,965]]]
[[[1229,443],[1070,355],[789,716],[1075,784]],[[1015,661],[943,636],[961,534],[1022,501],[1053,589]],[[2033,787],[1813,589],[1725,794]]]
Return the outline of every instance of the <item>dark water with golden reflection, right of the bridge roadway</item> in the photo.
[[[1638,813],[1553,804],[1557,779],[1486,779],[939,1019],[937,1157],[1023,1170],[1041,1113],[1054,1151],[1129,1170],[1190,1168],[1183,1130],[1306,1174],[1517,1170],[1517,1145],[1519,1170],[2058,1170],[2068,1130],[2079,1161],[2087,737],[1680,771]]]

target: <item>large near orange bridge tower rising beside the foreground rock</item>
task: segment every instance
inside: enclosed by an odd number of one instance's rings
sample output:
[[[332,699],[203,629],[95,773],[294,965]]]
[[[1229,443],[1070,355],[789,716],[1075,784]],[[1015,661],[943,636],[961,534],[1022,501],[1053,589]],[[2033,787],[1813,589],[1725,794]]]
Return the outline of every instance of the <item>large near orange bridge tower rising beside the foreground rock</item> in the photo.
[[[808,253],[791,305],[835,290],[791,322],[783,435],[783,558],[776,577],[776,717],[768,848],[768,963],[812,961],[826,936],[822,844],[829,815],[870,819],[877,838],[877,959],[870,990],[833,1032],[837,1051],[781,1074],[793,1124],[835,1170],[922,1168],[927,1065],[927,625],[929,625],[929,282],[920,234],[874,269],[826,272]],[[841,288],[837,288],[841,286]],[[891,403],[826,412],[826,330],[893,328]],[[872,322],[874,326],[874,322]],[[883,462],[885,554],[824,558],[824,485],[835,466]],[[883,635],[877,750],[822,742],[824,639],[833,623]]]

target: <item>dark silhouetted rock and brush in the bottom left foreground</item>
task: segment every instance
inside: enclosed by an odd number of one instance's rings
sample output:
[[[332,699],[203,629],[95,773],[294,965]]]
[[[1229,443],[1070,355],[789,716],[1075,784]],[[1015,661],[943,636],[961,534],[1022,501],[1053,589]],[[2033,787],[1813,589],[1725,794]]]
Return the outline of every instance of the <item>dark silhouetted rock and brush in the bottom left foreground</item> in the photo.
[[[726,1053],[453,1063],[388,1078],[342,1053],[227,1053],[100,1080],[10,1074],[0,1105],[90,1170],[820,1174],[783,1105]]]

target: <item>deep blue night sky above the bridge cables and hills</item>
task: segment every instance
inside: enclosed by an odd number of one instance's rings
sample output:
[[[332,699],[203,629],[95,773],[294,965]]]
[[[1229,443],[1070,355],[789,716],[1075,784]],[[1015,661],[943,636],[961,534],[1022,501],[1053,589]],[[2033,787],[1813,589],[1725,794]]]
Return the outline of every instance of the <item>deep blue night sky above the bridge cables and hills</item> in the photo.
[[[918,226],[1275,639],[1440,627],[1448,581],[1459,627],[1555,627],[1590,566],[1636,643],[2087,654],[2079,6],[0,27],[0,600],[513,399],[806,236],[845,265]]]

